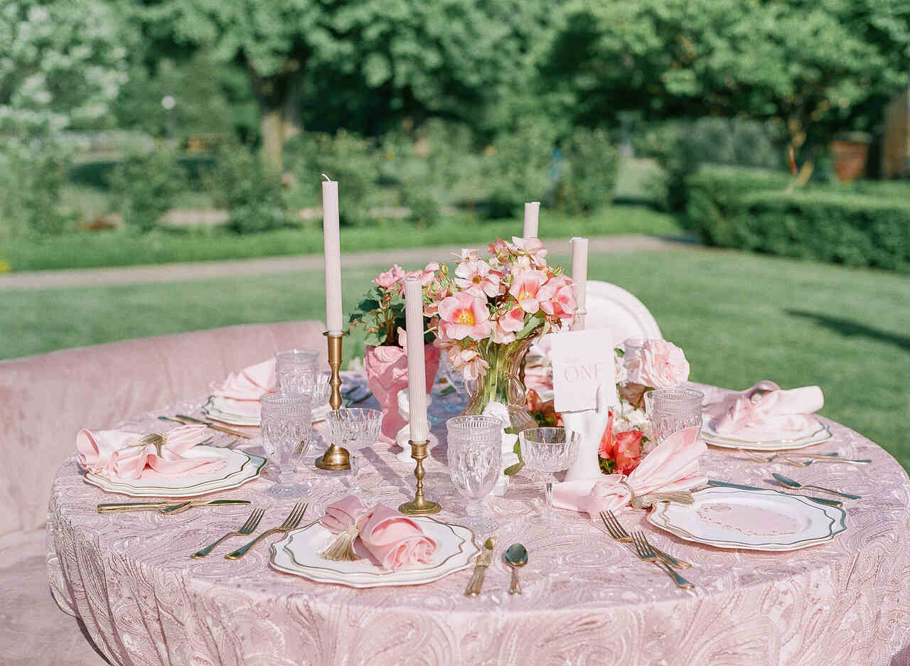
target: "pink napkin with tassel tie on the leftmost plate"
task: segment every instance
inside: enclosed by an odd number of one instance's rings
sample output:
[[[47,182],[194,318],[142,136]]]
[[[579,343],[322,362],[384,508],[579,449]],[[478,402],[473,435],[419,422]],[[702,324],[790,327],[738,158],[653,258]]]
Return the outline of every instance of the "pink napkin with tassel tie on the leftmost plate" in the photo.
[[[205,431],[205,426],[180,426],[155,438],[126,430],[81,429],[76,435],[77,459],[88,471],[108,479],[139,479],[149,470],[167,477],[213,471],[224,464],[222,459],[183,455],[205,439]]]

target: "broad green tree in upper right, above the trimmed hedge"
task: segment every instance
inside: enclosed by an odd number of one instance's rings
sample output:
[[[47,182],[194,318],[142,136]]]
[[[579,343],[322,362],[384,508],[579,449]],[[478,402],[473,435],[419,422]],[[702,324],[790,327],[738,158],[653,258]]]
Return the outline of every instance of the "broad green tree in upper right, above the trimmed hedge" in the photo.
[[[792,145],[825,139],[907,82],[910,5],[900,0],[581,0],[563,7],[541,81],[582,123],[748,116]]]

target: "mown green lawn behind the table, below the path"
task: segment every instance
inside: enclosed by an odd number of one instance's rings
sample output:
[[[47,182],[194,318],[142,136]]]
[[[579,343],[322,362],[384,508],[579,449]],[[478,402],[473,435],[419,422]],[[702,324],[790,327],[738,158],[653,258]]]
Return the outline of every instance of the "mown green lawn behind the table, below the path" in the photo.
[[[910,278],[708,249],[591,257],[590,271],[651,308],[664,335],[685,350],[694,380],[735,389],[762,378],[784,387],[817,383],[826,416],[910,467]],[[375,272],[346,270],[348,306]],[[0,358],[193,328],[321,319],[322,290],[322,274],[314,272],[0,291]],[[362,348],[354,337],[346,352]]]

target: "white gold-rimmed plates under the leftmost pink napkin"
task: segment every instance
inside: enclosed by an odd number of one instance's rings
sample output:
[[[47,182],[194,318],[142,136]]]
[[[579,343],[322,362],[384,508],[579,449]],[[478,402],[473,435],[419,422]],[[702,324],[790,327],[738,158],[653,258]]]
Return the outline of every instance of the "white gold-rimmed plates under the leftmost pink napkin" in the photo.
[[[108,479],[86,470],[83,479],[106,492],[117,492],[130,497],[197,497],[217,490],[237,488],[256,479],[266,464],[266,459],[238,449],[199,445],[187,450],[187,458],[217,457],[224,459],[226,467],[207,474],[187,475],[180,478],[157,476],[145,479]]]

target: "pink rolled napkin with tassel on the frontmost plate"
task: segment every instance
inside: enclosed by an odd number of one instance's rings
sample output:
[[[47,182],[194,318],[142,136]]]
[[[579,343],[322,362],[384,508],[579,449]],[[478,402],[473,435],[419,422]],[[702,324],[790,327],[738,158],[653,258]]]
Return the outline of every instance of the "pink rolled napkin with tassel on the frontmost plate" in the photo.
[[[320,522],[332,534],[356,525],[359,540],[383,569],[397,571],[414,564],[429,564],[436,552],[436,541],[426,536],[416,522],[380,504],[368,509],[355,495],[331,504]]]

